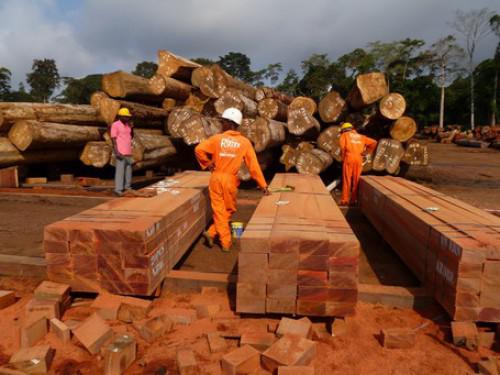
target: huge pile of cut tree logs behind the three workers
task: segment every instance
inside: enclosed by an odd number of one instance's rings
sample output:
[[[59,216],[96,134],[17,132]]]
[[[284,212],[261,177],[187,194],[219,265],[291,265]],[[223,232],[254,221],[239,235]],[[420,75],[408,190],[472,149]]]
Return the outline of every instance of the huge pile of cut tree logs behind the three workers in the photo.
[[[412,139],[417,126],[404,116],[405,99],[389,92],[382,73],[358,76],[346,98],[331,91],[316,103],[253,87],[218,65],[201,66],[159,51],[152,78],[117,71],[103,76],[101,89],[90,105],[0,103],[0,166],[78,158],[96,168],[113,164],[109,127],[122,107],[133,114],[136,169],[164,165],[177,153],[192,159],[192,152],[178,146],[192,147],[220,133],[220,115],[229,107],[242,111],[240,130],[255,145],[263,168],[282,147],[287,171],[322,173],[341,162],[339,126],[345,121],[381,140],[366,171],[395,173],[401,160],[427,162],[427,151],[417,152],[425,145]],[[245,166],[240,177],[249,178]]]

